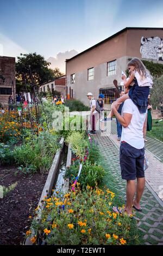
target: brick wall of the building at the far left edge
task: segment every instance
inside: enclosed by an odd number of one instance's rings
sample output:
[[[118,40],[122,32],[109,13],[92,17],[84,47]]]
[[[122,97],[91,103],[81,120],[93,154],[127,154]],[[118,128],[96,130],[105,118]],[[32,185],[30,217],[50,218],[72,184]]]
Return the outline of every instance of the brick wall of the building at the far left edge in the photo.
[[[5,81],[0,79],[1,88],[11,88],[12,99],[15,100],[16,84],[15,84],[15,58],[0,56],[0,74],[5,77]],[[13,81],[13,86],[12,86]],[[0,94],[0,103],[4,108],[8,108],[8,97],[10,95]]]

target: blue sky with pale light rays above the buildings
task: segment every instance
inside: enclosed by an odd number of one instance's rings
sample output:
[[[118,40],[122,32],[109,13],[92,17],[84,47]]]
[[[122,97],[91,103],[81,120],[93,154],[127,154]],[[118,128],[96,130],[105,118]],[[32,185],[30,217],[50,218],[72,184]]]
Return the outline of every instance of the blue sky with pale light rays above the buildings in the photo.
[[[0,0],[0,55],[65,59],[126,27],[163,27],[162,0]],[[52,58],[51,58],[52,60]]]

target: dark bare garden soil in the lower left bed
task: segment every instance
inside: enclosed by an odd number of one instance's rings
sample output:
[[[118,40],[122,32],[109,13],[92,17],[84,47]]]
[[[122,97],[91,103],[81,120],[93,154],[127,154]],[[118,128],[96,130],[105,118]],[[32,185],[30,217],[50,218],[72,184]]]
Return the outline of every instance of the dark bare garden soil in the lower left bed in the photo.
[[[1,186],[9,187],[17,182],[14,190],[0,198],[0,245],[23,244],[46,179],[47,174],[25,175],[14,166],[0,166]]]

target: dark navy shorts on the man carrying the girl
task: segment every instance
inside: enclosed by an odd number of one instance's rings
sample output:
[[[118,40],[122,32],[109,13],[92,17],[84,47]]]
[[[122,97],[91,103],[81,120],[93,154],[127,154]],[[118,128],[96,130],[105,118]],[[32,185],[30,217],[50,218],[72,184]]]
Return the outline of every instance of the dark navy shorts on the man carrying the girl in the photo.
[[[136,149],[126,142],[120,146],[121,176],[125,180],[135,180],[145,177],[143,170],[145,148]]]

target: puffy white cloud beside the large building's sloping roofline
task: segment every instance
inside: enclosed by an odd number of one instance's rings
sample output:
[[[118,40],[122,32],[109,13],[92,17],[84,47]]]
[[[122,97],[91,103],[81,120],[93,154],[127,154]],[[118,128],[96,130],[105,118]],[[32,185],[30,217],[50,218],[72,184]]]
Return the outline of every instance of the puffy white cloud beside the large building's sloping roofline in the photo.
[[[70,59],[73,56],[77,55],[78,52],[76,50],[70,50],[66,52],[59,52],[56,57],[49,57],[47,62],[50,62],[51,65],[49,68],[59,68],[61,72],[66,72],[66,59]]]

